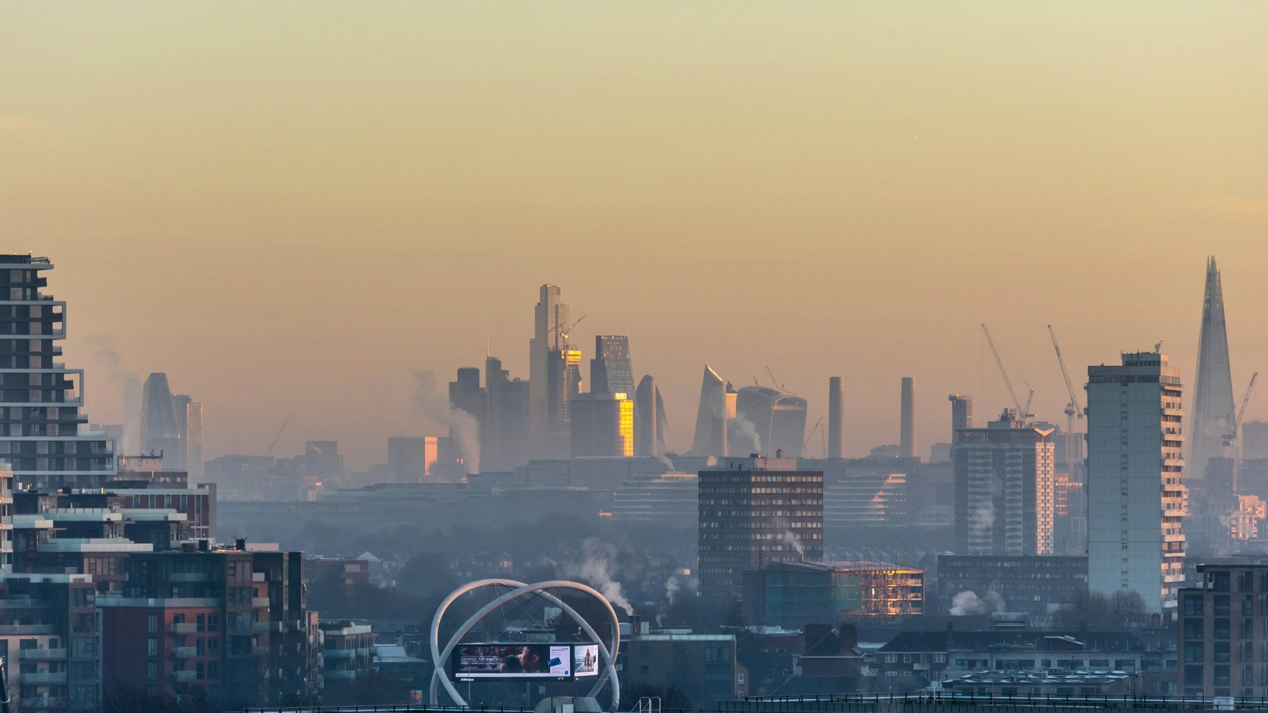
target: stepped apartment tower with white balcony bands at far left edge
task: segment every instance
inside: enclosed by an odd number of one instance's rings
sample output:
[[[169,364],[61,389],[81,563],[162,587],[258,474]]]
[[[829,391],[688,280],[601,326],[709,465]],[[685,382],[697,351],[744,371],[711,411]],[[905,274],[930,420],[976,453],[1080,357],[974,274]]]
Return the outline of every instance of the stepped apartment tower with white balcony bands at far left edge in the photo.
[[[53,362],[66,339],[66,302],[41,293],[48,284],[41,273],[51,269],[48,258],[0,255],[0,459],[18,487],[103,487],[114,480],[114,439],[85,428],[84,372]]]

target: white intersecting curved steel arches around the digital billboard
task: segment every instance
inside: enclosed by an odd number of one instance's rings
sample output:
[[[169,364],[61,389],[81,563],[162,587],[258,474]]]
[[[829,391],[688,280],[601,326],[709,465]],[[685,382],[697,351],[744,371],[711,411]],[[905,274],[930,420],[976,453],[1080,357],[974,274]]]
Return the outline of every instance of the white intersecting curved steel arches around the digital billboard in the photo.
[[[478,612],[476,612],[474,614],[472,614],[470,618],[468,618],[467,622],[464,622],[463,625],[459,627],[456,632],[454,632],[454,636],[449,639],[449,643],[445,644],[444,652],[441,652],[440,651],[440,620],[444,618],[445,612],[449,609],[449,606],[459,596],[463,596],[464,594],[468,594],[470,591],[476,591],[478,589],[488,587],[488,586],[510,586],[510,587],[515,587],[515,589],[511,590],[511,591],[508,591],[508,592],[506,592],[506,594],[503,594],[503,595],[501,595],[501,596],[498,596],[493,601],[489,601],[488,604],[486,604],[484,606],[482,606]],[[595,632],[593,627],[591,627],[590,623],[586,622],[586,619],[581,614],[578,614],[576,609],[573,609],[572,606],[569,606],[568,603],[563,601],[558,596],[555,596],[555,595],[545,591],[548,589],[571,589],[571,590],[574,590],[574,591],[581,591],[581,592],[591,595],[598,603],[601,603],[604,605],[604,608],[607,609],[607,614],[609,614],[609,617],[611,617],[611,620],[612,620],[612,643],[611,643],[611,648],[609,648],[607,646],[604,646],[604,641],[602,641],[602,638],[600,638],[598,633]],[[449,697],[454,700],[454,703],[456,703],[458,705],[462,705],[462,707],[467,707],[468,705],[467,700],[464,700],[463,697],[458,693],[458,689],[454,688],[453,681],[449,680],[449,675],[445,672],[445,664],[449,661],[449,656],[453,653],[454,647],[458,646],[458,642],[463,638],[463,636],[467,632],[469,632],[472,629],[472,627],[474,627],[476,624],[478,624],[484,617],[487,617],[491,612],[493,612],[498,606],[506,604],[507,601],[511,601],[511,600],[515,600],[515,599],[519,599],[521,596],[530,595],[530,594],[540,596],[541,599],[545,599],[550,604],[558,606],[560,610],[563,610],[563,613],[568,614],[568,617],[572,618],[572,620],[576,622],[577,625],[579,625],[583,632],[586,632],[586,636],[588,636],[591,639],[593,639],[595,643],[598,644],[600,656],[602,656],[602,658],[607,662],[607,666],[605,666],[604,674],[598,677],[598,680],[595,681],[595,686],[590,690],[588,695],[590,697],[597,695],[598,691],[602,690],[604,684],[610,680],[611,681],[611,686],[612,686],[612,707],[611,707],[611,709],[612,710],[616,709],[618,704],[620,703],[620,698],[621,698],[620,681],[616,677],[616,653],[620,650],[620,644],[621,644],[621,627],[620,627],[620,622],[616,618],[616,610],[612,609],[612,605],[611,605],[610,601],[607,601],[607,598],[604,596],[602,594],[600,594],[593,587],[588,587],[588,586],[586,586],[583,584],[572,582],[572,581],[567,581],[567,580],[550,580],[550,581],[536,582],[536,584],[531,584],[531,585],[524,584],[524,582],[520,582],[520,581],[515,581],[515,580],[496,580],[496,579],[495,580],[479,580],[479,581],[474,581],[474,582],[463,585],[463,586],[455,589],[454,591],[449,592],[449,596],[446,596],[444,599],[444,601],[440,603],[440,606],[436,608],[436,615],[432,617],[432,619],[431,619],[431,637],[430,638],[431,638],[431,662],[432,662],[434,671],[431,674],[430,700],[431,700],[432,705],[439,705],[439,703],[440,703],[440,700],[439,700],[440,699],[440,690],[437,688],[437,684],[443,685],[445,688],[445,693],[449,694]]]

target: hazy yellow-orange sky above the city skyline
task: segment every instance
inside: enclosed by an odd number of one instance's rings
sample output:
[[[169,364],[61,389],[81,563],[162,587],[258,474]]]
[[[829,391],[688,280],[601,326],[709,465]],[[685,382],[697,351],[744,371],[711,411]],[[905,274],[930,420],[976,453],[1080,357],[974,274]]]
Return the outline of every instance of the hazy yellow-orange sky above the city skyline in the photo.
[[[1191,384],[1207,254],[1240,398],[1268,4],[8,3],[0,240],[57,265],[90,416],[122,419],[109,335],[204,403],[209,458],[289,411],[275,454],[350,467],[437,433],[412,372],[489,332],[527,378],[541,283],[587,360],[630,336],[681,450],[708,362],[770,365],[812,424],[846,377],[856,455],[914,376],[927,455],[948,392],[1006,405],[979,322],[1040,417],[1050,322],[1079,383],[1163,339]]]

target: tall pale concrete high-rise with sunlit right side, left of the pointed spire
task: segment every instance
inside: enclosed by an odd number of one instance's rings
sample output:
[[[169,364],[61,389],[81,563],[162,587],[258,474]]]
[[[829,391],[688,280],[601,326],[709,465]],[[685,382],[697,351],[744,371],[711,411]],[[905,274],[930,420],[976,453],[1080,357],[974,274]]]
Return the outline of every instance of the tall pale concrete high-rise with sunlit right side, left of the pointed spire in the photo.
[[[1088,587],[1174,613],[1184,580],[1181,370],[1156,351],[1088,367]]]

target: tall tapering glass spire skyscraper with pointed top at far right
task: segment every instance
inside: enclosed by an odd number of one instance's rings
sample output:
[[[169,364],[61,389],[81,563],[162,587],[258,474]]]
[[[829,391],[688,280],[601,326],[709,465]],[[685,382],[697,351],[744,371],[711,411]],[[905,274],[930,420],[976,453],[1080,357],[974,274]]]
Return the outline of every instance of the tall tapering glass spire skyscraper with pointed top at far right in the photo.
[[[1186,480],[1206,477],[1211,458],[1224,455],[1224,439],[1232,433],[1232,376],[1229,369],[1229,332],[1224,325],[1224,288],[1215,258],[1206,263],[1202,296],[1202,332],[1197,345],[1197,382],[1193,386],[1193,428],[1189,431],[1189,466]]]

